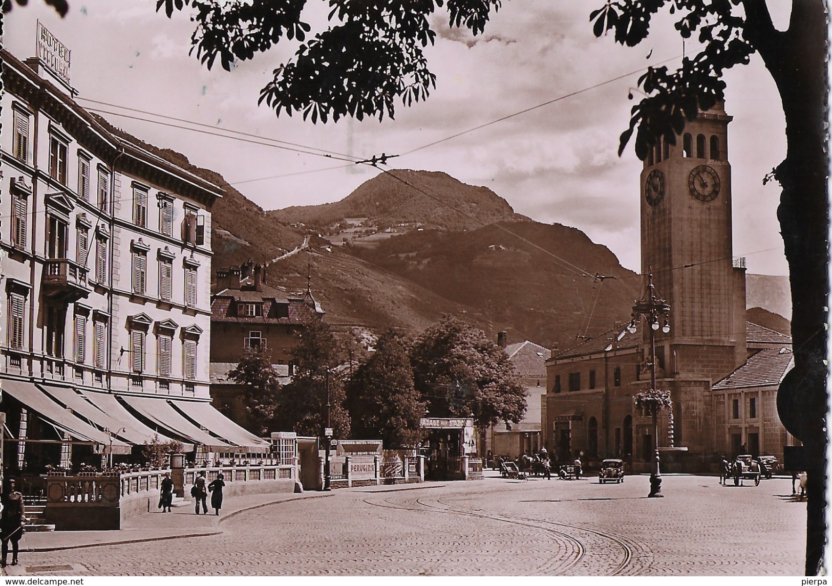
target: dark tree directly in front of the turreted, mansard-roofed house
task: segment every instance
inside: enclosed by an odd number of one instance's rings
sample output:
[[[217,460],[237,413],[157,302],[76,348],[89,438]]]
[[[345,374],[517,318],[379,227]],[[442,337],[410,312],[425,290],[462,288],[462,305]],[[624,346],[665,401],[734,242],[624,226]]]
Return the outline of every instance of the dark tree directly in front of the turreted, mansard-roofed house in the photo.
[[[344,408],[344,352],[329,324],[310,318],[290,350],[295,363],[292,382],[280,391],[276,421],[280,429],[301,436],[324,436],[329,391],[329,421],[334,436],[349,437],[349,413]]]

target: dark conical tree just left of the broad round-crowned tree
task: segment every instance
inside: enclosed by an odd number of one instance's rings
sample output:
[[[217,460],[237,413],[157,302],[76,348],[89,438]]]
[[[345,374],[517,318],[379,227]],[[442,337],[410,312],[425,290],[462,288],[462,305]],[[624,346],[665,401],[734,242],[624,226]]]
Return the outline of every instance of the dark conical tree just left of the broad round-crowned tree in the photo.
[[[390,330],[355,370],[346,387],[353,437],[381,438],[386,447],[414,446],[421,439],[425,403],[414,387],[408,346],[404,336]]]

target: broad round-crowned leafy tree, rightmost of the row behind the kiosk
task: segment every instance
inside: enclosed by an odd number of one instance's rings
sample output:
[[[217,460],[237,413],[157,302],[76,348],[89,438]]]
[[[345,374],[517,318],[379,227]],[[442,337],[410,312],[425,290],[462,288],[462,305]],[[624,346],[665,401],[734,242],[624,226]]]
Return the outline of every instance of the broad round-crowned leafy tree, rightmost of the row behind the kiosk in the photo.
[[[416,339],[410,352],[415,384],[432,416],[467,417],[485,428],[517,423],[526,412],[526,390],[503,348],[482,330],[445,315]]]

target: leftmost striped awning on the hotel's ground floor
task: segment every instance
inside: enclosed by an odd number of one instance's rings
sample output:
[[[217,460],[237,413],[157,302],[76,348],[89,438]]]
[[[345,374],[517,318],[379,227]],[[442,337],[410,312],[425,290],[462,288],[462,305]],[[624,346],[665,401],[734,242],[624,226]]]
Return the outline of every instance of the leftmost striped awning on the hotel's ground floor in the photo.
[[[35,411],[44,421],[55,427],[57,431],[69,434],[74,440],[88,441],[99,446],[110,446],[111,436],[104,433],[75,416],[71,409],[67,409],[52,400],[32,382],[2,379],[2,392],[13,396],[27,409]],[[112,440],[113,453],[130,453],[130,446],[120,440]]]

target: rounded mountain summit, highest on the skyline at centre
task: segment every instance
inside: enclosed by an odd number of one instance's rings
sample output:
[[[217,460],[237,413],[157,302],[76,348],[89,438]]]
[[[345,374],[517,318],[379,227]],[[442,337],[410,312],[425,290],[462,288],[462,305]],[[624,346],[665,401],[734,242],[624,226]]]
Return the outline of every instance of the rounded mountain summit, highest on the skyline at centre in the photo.
[[[332,204],[300,205],[270,211],[285,224],[324,229],[345,218],[367,219],[380,230],[398,224],[470,230],[522,218],[508,202],[486,187],[466,185],[446,173],[390,170],[365,181]]]

